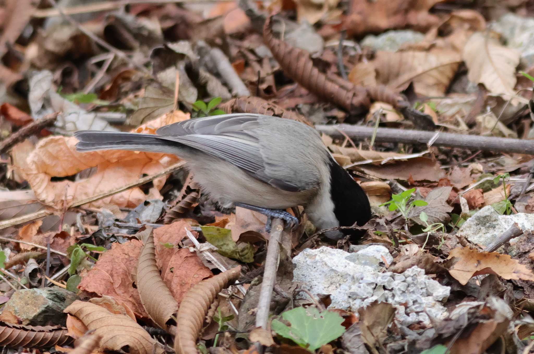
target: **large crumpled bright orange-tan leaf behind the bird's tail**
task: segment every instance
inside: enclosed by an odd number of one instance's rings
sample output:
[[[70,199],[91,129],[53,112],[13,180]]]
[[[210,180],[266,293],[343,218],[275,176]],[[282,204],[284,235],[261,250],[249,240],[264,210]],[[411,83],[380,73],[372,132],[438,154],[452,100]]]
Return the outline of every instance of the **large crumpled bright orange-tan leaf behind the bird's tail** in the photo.
[[[189,119],[189,114],[181,111],[166,114],[140,126],[137,133],[154,133],[163,125]],[[112,190],[135,182],[143,174],[151,175],[177,161],[175,155],[134,151],[105,150],[88,153],[77,152],[75,137],[50,136],[40,141],[25,161],[16,165],[18,171],[28,181],[36,197],[46,205],[63,208],[75,200]],[[78,182],[62,180],[52,182],[52,177],[74,175],[84,169],[97,167],[97,172]],[[167,177],[155,179],[154,187],[147,196],[140,188],[93,202],[93,207],[112,203],[119,207],[135,208],[146,199],[162,199],[159,190]],[[65,200],[66,199],[66,200]]]

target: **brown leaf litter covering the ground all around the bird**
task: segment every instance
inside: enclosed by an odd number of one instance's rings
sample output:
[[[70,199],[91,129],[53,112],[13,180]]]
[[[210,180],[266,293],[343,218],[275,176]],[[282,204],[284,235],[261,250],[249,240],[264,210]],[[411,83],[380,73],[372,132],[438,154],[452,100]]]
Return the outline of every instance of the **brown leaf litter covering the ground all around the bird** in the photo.
[[[0,4],[8,19],[0,21],[0,299],[17,306],[15,291],[53,285],[81,299],[49,300],[59,311],[41,326],[20,325],[29,315],[6,311],[0,345],[10,354],[257,353],[254,343],[280,353],[483,353],[498,345],[527,352],[532,155],[506,144],[500,152],[436,147],[417,136],[434,130],[529,143],[534,83],[520,72],[532,73],[534,13],[525,1],[501,3],[147,3],[121,13],[61,3],[81,11],[74,22],[51,16],[54,6]],[[510,18],[525,32],[520,45]],[[364,138],[323,134],[370,197],[374,219],[361,238],[334,244],[302,209],[292,211],[301,225],[282,235],[268,329],[254,328],[271,242],[266,217],[213,205],[183,169],[152,178],[179,161],[174,155],[74,148],[79,129],[155,134],[223,112],[378,127]],[[38,125],[56,113],[53,125]],[[414,139],[383,141],[383,128],[414,131]],[[113,192],[124,185],[135,186]],[[482,242],[462,225],[475,225],[477,237],[505,233],[495,215],[516,218],[524,234],[485,252],[494,237]],[[333,308],[333,294],[303,297],[311,284],[292,283],[292,258],[323,246],[351,252],[346,268],[375,267],[340,282],[356,281],[351,296],[366,307],[334,299]],[[404,289],[417,280],[412,267],[431,278],[419,279],[426,287]],[[334,282],[328,271],[309,273]],[[380,283],[386,272],[393,288]],[[452,290],[439,306],[428,302],[443,289],[432,281]],[[428,321],[406,322],[413,308],[398,305],[404,296],[421,298]],[[192,332],[176,336],[176,326]]]

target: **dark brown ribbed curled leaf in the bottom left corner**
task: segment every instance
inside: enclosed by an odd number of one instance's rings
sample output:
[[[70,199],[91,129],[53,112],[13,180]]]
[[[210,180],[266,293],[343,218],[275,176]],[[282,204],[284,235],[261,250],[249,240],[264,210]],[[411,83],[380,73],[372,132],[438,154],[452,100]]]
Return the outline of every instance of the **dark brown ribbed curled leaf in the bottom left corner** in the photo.
[[[7,348],[48,348],[69,344],[73,338],[59,326],[23,326],[0,321],[0,346]]]

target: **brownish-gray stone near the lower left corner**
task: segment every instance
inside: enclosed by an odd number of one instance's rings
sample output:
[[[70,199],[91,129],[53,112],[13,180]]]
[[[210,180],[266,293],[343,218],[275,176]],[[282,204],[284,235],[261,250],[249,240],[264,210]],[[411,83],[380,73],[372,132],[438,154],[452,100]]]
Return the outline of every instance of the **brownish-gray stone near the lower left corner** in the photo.
[[[67,314],[63,310],[76,298],[73,292],[57,286],[18,290],[4,305],[0,319],[13,315],[23,325],[65,326]]]

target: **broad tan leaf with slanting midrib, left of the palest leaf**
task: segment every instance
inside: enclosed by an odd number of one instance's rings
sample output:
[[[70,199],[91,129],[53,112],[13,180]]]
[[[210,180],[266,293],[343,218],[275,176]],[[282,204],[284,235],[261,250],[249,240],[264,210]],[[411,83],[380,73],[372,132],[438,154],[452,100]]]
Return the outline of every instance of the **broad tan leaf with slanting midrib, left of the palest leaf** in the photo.
[[[372,63],[378,83],[399,90],[413,82],[418,94],[443,96],[461,60],[456,51],[435,49],[429,52],[378,51]]]

